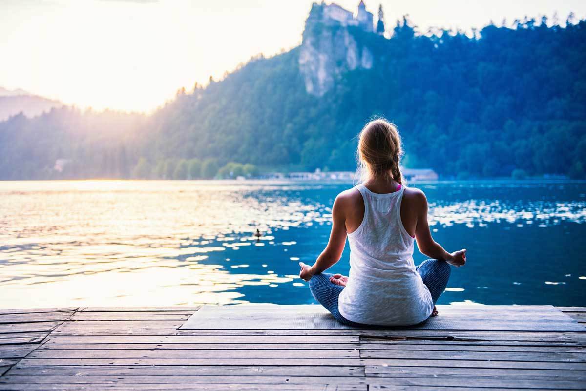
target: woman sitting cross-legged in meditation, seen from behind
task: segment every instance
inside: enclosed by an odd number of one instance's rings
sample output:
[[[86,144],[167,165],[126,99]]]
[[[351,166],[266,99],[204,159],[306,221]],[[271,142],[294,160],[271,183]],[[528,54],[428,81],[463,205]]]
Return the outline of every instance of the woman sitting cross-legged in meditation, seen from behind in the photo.
[[[360,132],[357,155],[363,182],[336,197],[328,245],[313,266],[299,262],[315,299],[349,325],[413,325],[437,315],[435,303],[448,284],[450,266],[466,262],[466,250],[448,253],[431,237],[427,198],[403,184],[403,150],[397,128],[385,119]],[[323,273],[350,243],[348,277]],[[414,241],[432,259],[415,267]]]

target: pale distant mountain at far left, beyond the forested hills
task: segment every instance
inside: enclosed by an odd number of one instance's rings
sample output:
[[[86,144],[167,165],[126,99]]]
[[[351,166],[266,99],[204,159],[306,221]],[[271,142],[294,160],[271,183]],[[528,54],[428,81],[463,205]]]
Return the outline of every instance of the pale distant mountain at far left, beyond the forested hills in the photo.
[[[61,105],[63,104],[59,101],[30,94],[20,88],[7,90],[0,87],[0,121],[19,112],[26,116],[36,116]]]

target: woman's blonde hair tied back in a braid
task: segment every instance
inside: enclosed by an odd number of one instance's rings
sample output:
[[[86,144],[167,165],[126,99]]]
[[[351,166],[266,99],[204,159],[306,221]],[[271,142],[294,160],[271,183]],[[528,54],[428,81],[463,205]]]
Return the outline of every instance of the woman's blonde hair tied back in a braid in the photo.
[[[375,176],[387,176],[404,184],[399,168],[403,148],[397,126],[384,118],[370,121],[360,131],[356,150],[362,181]]]

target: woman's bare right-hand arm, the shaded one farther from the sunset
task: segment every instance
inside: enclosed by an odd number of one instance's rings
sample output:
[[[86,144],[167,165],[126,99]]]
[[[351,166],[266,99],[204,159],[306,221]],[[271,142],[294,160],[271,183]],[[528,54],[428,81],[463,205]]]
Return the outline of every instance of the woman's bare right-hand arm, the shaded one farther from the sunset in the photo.
[[[431,236],[430,225],[427,221],[427,197],[423,191],[415,194],[417,198],[417,225],[415,225],[415,240],[419,251],[430,258],[442,259],[454,266],[462,266],[466,263],[466,249],[449,253],[440,243],[434,241]]]

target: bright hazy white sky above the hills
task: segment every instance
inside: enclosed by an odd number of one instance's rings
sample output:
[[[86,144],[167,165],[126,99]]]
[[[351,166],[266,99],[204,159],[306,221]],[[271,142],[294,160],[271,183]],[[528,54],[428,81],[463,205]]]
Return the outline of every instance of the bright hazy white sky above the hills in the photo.
[[[359,0],[336,3],[356,11]],[[584,0],[366,0],[387,23],[469,29],[586,16]],[[329,2],[328,2],[329,3]],[[68,104],[149,111],[180,87],[301,43],[312,0],[0,0],[0,86]]]

